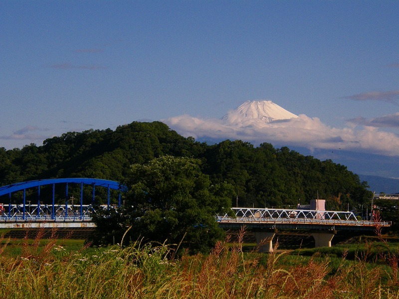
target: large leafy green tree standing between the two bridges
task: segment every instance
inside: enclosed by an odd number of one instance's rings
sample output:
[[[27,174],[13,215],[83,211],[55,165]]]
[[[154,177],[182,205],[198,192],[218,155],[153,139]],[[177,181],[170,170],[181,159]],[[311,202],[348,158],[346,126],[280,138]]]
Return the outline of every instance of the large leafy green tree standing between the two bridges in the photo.
[[[200,170],[200,160],[161,156],[147,164],[134,164],[127,179],[125,204],[117,213],[99,213],[95,222],[100,243],[124,240],[181,243],[190,253],[208,252],[223,238],[217,213],[230,211],[233,187],[212,184]],[[125,241],[124,241],[125,242]]]

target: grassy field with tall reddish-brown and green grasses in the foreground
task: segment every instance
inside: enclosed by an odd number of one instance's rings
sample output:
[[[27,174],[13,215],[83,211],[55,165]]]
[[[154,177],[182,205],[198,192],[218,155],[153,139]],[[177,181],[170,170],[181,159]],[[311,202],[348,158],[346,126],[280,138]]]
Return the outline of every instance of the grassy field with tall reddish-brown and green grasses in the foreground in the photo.
[[[140,242],[1,239],[0,298],[399,298],[397,244],[259,254],[239,240],[178,258]]]

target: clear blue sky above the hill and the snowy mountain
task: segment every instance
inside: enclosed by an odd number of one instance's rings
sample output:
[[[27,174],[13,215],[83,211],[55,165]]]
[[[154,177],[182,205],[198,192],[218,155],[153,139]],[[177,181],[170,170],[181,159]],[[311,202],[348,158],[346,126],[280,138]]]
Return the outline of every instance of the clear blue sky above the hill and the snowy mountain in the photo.
[[[398,15],[398,1],[3,0],[0,147],[133,121],[217,120],[268,99],[309,118],[310,135],[353,136],[351,155],[389,164],[399,156]],[[273,143],[334,160],[334,145],[307,140]]]

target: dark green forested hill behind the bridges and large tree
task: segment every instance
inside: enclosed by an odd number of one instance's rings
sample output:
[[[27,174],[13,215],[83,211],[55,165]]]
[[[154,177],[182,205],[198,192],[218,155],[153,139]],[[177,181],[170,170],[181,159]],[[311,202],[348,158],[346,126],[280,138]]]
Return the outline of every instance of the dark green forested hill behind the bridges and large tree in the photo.
[[[366,183],[331,160],[320,161],[288,148],[264,143],[255,148],[242,141],[216,145],[184,138],[160,122],[118,127],[115,131],[69,132],[43,146],[0,148],[0,185],[25,180],[93,177],[123,181],[130,165],[161,155],[191,156],[213,182],[231,183],[239,206],[283,207],[327,199],[329,208],[362,204],[371,198]],[[233,198],[233,206],[236,199]]]

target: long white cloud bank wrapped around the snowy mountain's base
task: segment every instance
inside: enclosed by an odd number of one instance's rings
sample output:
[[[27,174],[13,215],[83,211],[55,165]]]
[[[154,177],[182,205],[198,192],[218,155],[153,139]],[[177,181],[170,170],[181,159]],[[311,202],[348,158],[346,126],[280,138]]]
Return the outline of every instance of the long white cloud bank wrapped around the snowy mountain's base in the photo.
[[[308,149],[342,149],[383,155],[399,155],[399,137],[373,127],[331,128],[318,118],[299,118],[265,123],[249,119],[240,124],[182,115],[163,120],[179,134],[196,139],[242,140],[258,145],[271,143]]]

